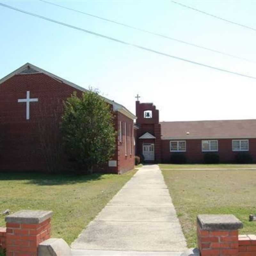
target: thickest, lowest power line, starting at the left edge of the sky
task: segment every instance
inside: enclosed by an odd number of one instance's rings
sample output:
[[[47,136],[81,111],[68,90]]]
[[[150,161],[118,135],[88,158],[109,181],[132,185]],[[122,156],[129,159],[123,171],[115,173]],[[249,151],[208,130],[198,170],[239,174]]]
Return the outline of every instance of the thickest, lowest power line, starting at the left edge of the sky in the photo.
[[[67,23],[64,23],[64,22],[57,21],[57,20],[52,20],[50,18],[41,16],[41,15],[33,13],[33,12],[27,12],[27,11],[24,11],[24,10],[12,7],[12,6],[7,5],[7,4],[0,3],[0,5],[3,6],[3,7],[6,7],[6,8],[12,9],[12,10],[18,11],[18,12],[22,12],[22,13],[34,16],[36,18],[40,18],[40,19],[43,19],[43,20],[51,21],[53,23],[56,23],[56,24],[59,24],[59,25],[62,25],[62,26],[68,27],[68,28],[73,28],[73,29],[76,29],[76,30],[79,30],[79,31],[83,31],[85,33],[92,34],[94,36],[103,37],[103,38],[106,38],[108,40],[112,40],[112,41],[115,41],[117,43],[133,46],[135,48],[142,49],[142,50],[145,50],[145,51],[148,51],[148,52],[154,52],[154,53],[159,54],[159,55],[163,55],[163,56],[170,57],[170,58],[177,59],[177,60],[186,61],[186,62],[189,62],[189,63],[192,63],[192,64],[196,64],[196,65],[199,65],[199,66],[204,66],[204,67],[207,67],[207,68],[212,68],[212,69],[223,71],[223,72],[227,72],[227,73],[230,73],[230,74],[235,74],[235,75],[238,75],[238,76],[245,76],[245,77],[248,77],[248,78],[256,79],[256,77],[254,77],[254,76],[247,76],[247,75],[244,75],[242,73],[237,73],[237,72],[229,71],[229,70],[226,70],[226,69],[209,66],[209,65],[206,65],[206,64],[203,64],[203,63],[199,63],[199,62],[196,62],[196,61],[193,61],[193,60],[187,60],[187,59],[183,59],[183,58],[180,58],[180,57],[177,57],[177,56],[173,56],[173,55],[170,55],[170,54],[167,54],[167,53],[164,53],[164,52],[158,52],[158,51],[155,51],[155,50],[152,50],[152,49],[149,49],[149,48],[137,45],[137,44],[127,43],[125,41],[122,41],[122,40],[119,40],[119,39],[116,39],[116,38],[113,38],[113,37],[110,37],[110,36],[105,36],[105,35],[102,35],[102,34],[99,34],[99,33],[93,32],[93,31],[89,31],[89,30],[86,30],[84,28],[76,27],[76,26],[73,26],[73,25],[70,25],[70,24],[67,24]]]

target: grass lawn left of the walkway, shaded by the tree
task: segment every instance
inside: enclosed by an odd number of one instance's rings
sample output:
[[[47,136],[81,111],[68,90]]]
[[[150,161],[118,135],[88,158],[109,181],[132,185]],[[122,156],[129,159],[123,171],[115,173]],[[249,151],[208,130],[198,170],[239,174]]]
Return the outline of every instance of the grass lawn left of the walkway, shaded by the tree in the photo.
[[[0,173],[0,212],[52,210],[52,237],[71,244],[135,172],[83,176]],[[0,227],[5,227],[3,214]]]

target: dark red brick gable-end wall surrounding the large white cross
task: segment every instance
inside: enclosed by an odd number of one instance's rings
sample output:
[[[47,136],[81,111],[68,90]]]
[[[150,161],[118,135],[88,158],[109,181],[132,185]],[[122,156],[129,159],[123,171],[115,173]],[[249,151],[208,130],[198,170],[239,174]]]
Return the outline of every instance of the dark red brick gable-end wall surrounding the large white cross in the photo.
[[[26,120],[26,103],[18,102],[18,99],[26,98],[27,91],[30,91],[30,98],[38,98],[38,102],[30,103],[29,120]],[[55,112],[60,117],[63,100],[70,97],[74,91],[77,91],[78,96],[82,94],[70,85],[41,73],[15,75],[0,85],[1,171],[46,170],[39,138],[39,124],[49,127],[55,118]],[[114,114],[117,128],[117,116],[116,113]],[[129,124],[133,123],[128,117],[124,119],[127,119]],[[52,129],[48,130],[50,132]],[[124,161],[120,158],[118,168],[122,172],[133,168],[131,164],[134,162],[133,157],[129,155],[127,158],[132,160]],[[117,160],[117,151],[113,159]],[[63,159],[62,162],[65,161],[67,162],[67,159]],[[117,168],[108,168],[106,165],[104,171],[117,172]]]

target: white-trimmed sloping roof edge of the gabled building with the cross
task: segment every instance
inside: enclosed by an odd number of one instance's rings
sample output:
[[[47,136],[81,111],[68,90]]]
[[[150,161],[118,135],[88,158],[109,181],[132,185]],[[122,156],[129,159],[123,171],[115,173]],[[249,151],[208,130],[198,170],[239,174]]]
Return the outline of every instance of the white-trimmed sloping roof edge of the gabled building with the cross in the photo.
[[[17,68],[16,70],[14,70],[12,73],[10,73],[7,76],[4,76],[2,79],[0,79],[0,84],[4,83],[6,80],[10,79],[12,76],[15,75],[25,75],[25,74],[35,74],[35,73],[43,73],[47,76],[52,77],[53,79],[59,81],[60,83],[64,83],[64,84],[68,84],[71,87],[74,87],[75,89],[82,91],[82,92],[88,92],[87,89],[74,84],[72,82],[69,82],[68,80],[65,80],[59,76],[56,76],[42,68],[38,68],[35,65],[32,65],[31,63],[26,63],[23,66],[21,66],[20,68]],[[124,114],[125,116],[128,116],[131,119],[136,119],[137,117],[135,115],[132,114],[132,112],[130,112],[127,108],[125,108],[123,105],[116,103],[114,100],[109,100],[103,96],[101,96],[102,98],[104,98],[109,104],[111,104],[113,106],[113,110],[114,111],[118,111],[122,114]]]

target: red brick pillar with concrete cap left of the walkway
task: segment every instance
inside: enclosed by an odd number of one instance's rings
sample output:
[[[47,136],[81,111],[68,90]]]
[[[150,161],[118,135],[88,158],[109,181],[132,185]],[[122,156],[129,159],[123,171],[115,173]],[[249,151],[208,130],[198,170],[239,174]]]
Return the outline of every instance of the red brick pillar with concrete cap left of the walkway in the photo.
[[[52,211],[22,210],[5,217],[6,256],[37,256],[38,244],[51,236]]]

